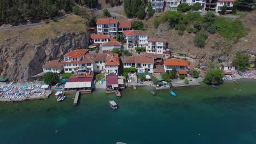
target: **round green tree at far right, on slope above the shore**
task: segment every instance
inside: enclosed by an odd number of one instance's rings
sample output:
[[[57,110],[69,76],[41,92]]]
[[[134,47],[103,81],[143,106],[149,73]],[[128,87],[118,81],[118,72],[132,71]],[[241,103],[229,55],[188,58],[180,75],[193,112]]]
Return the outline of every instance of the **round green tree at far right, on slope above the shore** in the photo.
[[[234,58],[232,65],[238,70],[246,70],[250,66],[249,58],[250,56],[246,53],[236,52],[236,57]]]

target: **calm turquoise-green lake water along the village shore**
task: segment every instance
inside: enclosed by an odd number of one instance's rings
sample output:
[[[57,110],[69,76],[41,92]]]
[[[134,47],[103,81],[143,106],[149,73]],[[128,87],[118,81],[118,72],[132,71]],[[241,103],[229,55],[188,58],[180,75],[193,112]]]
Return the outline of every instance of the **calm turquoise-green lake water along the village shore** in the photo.
[[[211,86],[102,90],[65,101],[1,103],[0,143],[256,143],[256,81]],[[115,100],[118,110],[110,108]]]

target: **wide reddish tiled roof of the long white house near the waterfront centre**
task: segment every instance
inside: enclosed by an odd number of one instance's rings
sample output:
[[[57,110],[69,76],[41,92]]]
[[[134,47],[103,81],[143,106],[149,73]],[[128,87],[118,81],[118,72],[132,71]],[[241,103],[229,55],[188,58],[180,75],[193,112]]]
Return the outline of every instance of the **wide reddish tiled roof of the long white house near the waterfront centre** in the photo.
[[[123,63],[154,63],[154,60],[146,56],[130,56],[124,57]]]

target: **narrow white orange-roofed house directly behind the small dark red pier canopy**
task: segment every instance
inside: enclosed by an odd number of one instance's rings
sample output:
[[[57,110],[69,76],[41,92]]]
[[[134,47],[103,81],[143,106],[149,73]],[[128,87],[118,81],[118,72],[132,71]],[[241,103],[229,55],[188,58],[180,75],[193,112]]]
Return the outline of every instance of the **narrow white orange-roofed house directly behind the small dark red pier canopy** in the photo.
[[[117,53],[112,53],[107,55],[105,67],[106,67],[106,73],[108,74],[118,74],[118,68],[119,68],[120,62],[119,62],[119,56]]]

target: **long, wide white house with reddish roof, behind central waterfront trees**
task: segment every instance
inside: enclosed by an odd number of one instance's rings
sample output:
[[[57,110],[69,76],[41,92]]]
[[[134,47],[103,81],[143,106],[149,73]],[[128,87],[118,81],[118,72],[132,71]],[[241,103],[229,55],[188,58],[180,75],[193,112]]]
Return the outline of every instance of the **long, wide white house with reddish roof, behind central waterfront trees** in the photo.
[[[136,68],[138,73],[153,73],[154,59],[146,56],[130,56],[123,58],[124,68]]]

